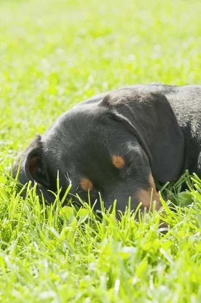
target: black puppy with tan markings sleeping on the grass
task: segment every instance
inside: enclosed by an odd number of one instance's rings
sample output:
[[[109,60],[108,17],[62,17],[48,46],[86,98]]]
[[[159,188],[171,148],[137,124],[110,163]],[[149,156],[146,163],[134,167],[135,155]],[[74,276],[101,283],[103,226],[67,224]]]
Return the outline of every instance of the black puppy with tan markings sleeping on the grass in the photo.
[[[35,138],[19,181],[36,181],[52,202],[59,171],[61,197],[70,179],[71,193],[87,200],[90,190],[94,201],[100,192],[106,208],[117,199],[125,211],[129,196],[133,210],[139,201],[149,207],[152,195],[159,209],[154,179],[171,181],[186,169],[201,177],[200,114],[201,86],[134,85],[94,96]]]

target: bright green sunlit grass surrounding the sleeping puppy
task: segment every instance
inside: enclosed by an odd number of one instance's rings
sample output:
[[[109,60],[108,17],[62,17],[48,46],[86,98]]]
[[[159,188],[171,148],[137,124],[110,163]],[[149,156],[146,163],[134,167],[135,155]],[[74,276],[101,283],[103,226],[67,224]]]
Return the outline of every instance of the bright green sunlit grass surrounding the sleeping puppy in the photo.
[[[74,104],[134,83],[200,84],[201,2],[0,0],[0,171]],[[121,222],[39,204],[0,173],[0,301],[201,302],[201,181]],[[173,203],[175,210],[173,210]],[[163,235],[160,218],[170,225]]]

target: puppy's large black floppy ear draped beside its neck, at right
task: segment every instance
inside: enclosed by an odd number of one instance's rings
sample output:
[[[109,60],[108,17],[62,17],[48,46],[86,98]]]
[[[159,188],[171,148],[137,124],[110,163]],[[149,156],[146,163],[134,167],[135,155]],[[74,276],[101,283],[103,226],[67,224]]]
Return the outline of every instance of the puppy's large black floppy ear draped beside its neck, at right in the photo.
[[[109,108],[137,137],[158,181],[165,183],[180,174],[184,138],[164,94],[123,90],[106,95],[100,105]]]

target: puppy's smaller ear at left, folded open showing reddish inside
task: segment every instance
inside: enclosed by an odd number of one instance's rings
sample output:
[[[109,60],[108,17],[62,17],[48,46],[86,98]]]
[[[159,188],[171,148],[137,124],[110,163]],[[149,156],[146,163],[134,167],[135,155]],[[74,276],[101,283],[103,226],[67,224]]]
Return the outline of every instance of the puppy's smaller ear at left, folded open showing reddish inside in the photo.
[[[40,135],[33,140],[22,154],[21,160],[14,165],[14,178],[17,175],[19,164],[18,181],[23,185],[29,181],[32,181],[32,184],[37,182],[37,193],[41,195],[42,191],[44,198],[49,203],[52,203],[55,197],[51,192],[47,191],[49,188],[49,178],[43,161],[43,148]]]

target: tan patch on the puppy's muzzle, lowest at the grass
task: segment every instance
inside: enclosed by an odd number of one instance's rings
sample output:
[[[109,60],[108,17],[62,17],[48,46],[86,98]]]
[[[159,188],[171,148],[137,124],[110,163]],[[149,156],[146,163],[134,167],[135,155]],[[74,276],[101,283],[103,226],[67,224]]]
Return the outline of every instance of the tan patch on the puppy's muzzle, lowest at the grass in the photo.
[[[141,189],[138,192],[137,198],[142,203],[142,206],[146,207],[147,210],[150,208],[151,203],[153,206],[153,202],[156,201],[156,210],[158,211],[161,208],[162,204],[159,194],[156,190],[156,185],[152,174],[149,175],[149,184],[150,186],[148,189]]]

